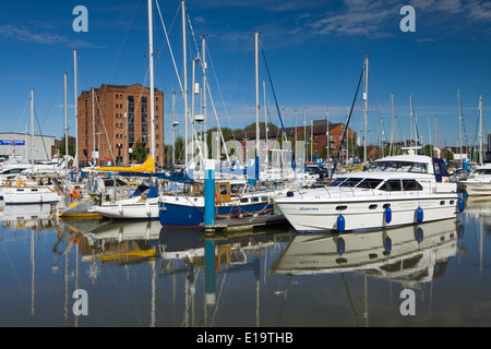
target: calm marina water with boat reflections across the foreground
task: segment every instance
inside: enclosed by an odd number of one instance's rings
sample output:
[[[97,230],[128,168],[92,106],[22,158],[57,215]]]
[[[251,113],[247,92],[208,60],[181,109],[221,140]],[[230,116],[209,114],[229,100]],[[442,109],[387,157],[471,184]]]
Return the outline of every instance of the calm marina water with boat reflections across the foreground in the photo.
[[[0,326],[491,325],[491,198],[457,219],[342,236],[208,237],[49,209],[3,207]]]

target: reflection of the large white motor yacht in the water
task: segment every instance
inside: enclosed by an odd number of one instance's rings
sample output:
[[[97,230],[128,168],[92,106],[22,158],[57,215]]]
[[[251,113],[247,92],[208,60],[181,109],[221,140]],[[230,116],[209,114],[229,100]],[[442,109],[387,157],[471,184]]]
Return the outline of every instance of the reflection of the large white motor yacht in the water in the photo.
[[[359,272],[406,287],[431,281],[457,254],[456,219],[346,234],[298,234],[273,264],[275,273]]]

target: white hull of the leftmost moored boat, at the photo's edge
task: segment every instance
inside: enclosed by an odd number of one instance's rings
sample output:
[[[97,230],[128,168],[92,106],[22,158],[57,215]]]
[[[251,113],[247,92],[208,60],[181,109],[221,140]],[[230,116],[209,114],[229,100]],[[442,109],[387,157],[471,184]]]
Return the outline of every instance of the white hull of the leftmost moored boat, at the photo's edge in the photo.
[[[5,186],[3,188],[5,205],[58,203],[60,195],[51,186]]]

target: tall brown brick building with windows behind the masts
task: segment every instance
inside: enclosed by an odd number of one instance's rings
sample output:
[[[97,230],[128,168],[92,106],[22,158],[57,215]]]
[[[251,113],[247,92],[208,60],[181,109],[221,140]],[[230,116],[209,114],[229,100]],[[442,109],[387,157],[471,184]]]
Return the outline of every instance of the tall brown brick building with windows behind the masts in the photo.
[[[164,93],[155,88],[155,165],[164,165]],[[106,85],[83,91],[79,97],[79,163],[129,166],[130,153],[140,140],[151,154],[151,91],[141,84]]]

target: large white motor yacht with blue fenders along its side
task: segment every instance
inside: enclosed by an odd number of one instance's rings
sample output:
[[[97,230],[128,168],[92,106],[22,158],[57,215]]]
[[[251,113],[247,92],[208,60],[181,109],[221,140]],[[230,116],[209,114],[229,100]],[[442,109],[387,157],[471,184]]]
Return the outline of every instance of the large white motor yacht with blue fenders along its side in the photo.
[[[382,229],[455,218],[464,210],[442,159],[397,155],[325,188],[287,193],[276,207],[298,232]]]

